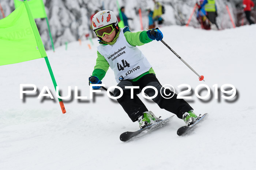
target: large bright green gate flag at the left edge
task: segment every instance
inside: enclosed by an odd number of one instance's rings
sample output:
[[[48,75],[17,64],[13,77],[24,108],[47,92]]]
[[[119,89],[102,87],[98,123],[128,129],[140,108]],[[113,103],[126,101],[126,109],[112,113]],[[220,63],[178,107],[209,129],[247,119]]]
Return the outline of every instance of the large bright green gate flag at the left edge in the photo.
[[[27,1],[0,20],[0,66],[46,57]]]

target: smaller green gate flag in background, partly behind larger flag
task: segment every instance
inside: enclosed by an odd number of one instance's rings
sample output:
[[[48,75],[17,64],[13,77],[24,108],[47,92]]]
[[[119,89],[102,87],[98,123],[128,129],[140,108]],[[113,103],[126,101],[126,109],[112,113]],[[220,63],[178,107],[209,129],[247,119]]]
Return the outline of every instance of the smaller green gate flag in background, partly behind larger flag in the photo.
[[[23,0],[14,0],[15,9],[18,8],[22,3]],[[29,0],[28,3],[34,19],[47,17],[45,12],[45,5],[42,0]]]

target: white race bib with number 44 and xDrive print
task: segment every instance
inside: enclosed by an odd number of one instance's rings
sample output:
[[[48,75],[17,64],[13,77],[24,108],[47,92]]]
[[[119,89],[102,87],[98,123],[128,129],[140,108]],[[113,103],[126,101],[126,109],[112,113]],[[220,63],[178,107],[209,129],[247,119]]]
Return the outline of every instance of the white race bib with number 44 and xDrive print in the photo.
[[[100,45],[97,49],[114,71],[117,83],[121,80],[134,79],[152,67],[142,52],[126,41],[123,28],[121,28],[116,43]]]

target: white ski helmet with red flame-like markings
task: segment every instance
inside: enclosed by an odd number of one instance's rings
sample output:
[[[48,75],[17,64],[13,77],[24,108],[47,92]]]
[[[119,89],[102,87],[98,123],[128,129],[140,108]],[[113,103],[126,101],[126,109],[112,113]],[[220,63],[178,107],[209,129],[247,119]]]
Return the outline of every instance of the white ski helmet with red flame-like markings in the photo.
[[[109,10],[99,11],[93,16],[93,19],[91,20],[93,31],[111,24],[113,24],[113,28],[119,28],[116,15],[113,11]]]

